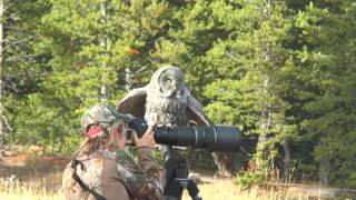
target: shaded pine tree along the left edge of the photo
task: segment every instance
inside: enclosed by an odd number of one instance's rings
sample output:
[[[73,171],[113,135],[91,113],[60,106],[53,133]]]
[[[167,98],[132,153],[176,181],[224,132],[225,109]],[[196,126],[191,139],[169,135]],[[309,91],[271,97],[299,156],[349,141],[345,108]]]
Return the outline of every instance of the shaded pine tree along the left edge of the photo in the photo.
[[[13,142],[17,137],[17,117],[27,108],[27,96],[39,90],[47,74],[43,62],[47,53],[37,53],[38,30],[41,14],[50,8],[46,0],[2,1],[3,48],[1,70],[1,120],[4,123],[4,141]]]

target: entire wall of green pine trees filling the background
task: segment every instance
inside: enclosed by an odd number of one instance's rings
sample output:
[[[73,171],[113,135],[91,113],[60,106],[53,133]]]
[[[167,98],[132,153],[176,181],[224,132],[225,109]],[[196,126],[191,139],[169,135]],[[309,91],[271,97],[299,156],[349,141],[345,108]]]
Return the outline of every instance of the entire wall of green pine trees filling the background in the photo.
[[[355,187],[354,1],[108,2],[4,1],[7,142],[71,152],[89,106],[115,104],[178,64],[214,123],[260,136],[258,169],[240,184],[287,170],[288,141],[296,180]],[[216,168],[192,151],[192,167]]]

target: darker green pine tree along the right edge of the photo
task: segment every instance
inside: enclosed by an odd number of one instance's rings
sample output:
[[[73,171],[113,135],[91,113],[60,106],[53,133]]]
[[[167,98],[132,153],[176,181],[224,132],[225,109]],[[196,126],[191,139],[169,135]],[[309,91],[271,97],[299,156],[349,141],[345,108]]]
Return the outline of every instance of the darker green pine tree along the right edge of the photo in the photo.
[[[308,113],[308,138],[316,144],[315,161],[319,162],[320,181],[355,186],[354,162],[354,64],[355,2],[319,1],[309,3],[298,14],[304,47],[300,61],[309,66],[310,100],[304,110]],[[316,37],[317,36],[317,37]]]

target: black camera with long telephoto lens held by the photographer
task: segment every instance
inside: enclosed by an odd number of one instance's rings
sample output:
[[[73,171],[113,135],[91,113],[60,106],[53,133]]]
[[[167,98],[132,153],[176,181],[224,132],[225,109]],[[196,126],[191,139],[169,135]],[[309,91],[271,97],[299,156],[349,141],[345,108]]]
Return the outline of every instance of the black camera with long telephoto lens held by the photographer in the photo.
[[[132,130],[142,137],[148,128],[145,120],[136,118],[128,123],[128,144],[132,144]],[[241,132],[233,126],[170,127],[155,126],[155,141],[160,144],[191,147],[214,152],[236,152],[243,141]]]

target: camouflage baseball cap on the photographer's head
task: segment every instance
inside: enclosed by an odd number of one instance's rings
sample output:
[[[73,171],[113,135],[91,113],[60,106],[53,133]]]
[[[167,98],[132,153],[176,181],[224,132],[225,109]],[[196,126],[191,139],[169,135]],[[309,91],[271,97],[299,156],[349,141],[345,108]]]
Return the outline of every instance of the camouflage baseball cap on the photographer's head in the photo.
[[[109,128],[113,123],[125,123],[134,119],[131,114],[120,113],[117,109],[108,104],[96,104],[90,107],[81,118],[81,129],[83,132],[92,124],[100,124]]]

